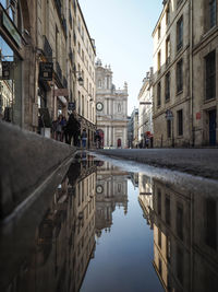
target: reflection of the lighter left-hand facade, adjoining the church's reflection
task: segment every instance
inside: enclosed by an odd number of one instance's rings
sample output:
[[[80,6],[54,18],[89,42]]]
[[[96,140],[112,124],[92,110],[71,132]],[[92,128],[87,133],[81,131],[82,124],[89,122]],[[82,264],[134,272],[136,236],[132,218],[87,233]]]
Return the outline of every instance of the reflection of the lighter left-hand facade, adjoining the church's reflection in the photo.
[[[74,255],[71,257],[75,280],[74,290],[78,291],[86,272],[89,259],[94,257],[95,247],[95,191],[96,191],[96,166],[92,166],[92,160],[87,161],[87,170],[82,164],[82,179],[75,189],[75,218],[76,227],[74,234]],[[70,290],[71,291],[71,290]]]

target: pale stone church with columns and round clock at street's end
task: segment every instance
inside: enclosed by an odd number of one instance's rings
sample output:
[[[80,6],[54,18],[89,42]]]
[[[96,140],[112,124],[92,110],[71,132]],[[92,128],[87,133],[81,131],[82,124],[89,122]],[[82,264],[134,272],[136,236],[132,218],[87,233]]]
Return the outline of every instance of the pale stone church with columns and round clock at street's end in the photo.
[[[123,90],[112,84],[110,66],[96,62],[96,119],[101,148],[128,145],[128,83]]]

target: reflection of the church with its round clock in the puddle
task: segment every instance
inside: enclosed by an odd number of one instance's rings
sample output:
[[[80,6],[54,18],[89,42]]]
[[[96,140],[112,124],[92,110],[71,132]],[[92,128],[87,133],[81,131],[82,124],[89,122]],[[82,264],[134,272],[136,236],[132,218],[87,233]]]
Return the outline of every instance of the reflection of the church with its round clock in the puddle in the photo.
[[[128,173],[119,171],[108,162],[97,168],[96,183],[96,234],[110,231],[116,206],[128,212]]]

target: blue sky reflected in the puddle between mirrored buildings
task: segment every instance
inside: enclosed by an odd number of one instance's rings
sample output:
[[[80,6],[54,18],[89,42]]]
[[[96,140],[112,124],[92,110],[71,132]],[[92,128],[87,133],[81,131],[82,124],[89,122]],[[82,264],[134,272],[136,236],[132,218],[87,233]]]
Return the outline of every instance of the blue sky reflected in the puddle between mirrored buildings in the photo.
[[[138,189],[128,183],[128,213],[116,208],[110,233],[102,231],[81,292],[162,291],[153,268],[153,231],[140,207]]]

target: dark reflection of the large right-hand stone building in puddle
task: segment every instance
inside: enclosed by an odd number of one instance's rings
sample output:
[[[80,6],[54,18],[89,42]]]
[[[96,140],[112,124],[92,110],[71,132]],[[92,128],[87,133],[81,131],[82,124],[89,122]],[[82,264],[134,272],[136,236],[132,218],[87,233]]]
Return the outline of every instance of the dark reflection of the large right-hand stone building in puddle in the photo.
[[[154,179],[154,267],[166,291],[216,291],[217,206]]]

